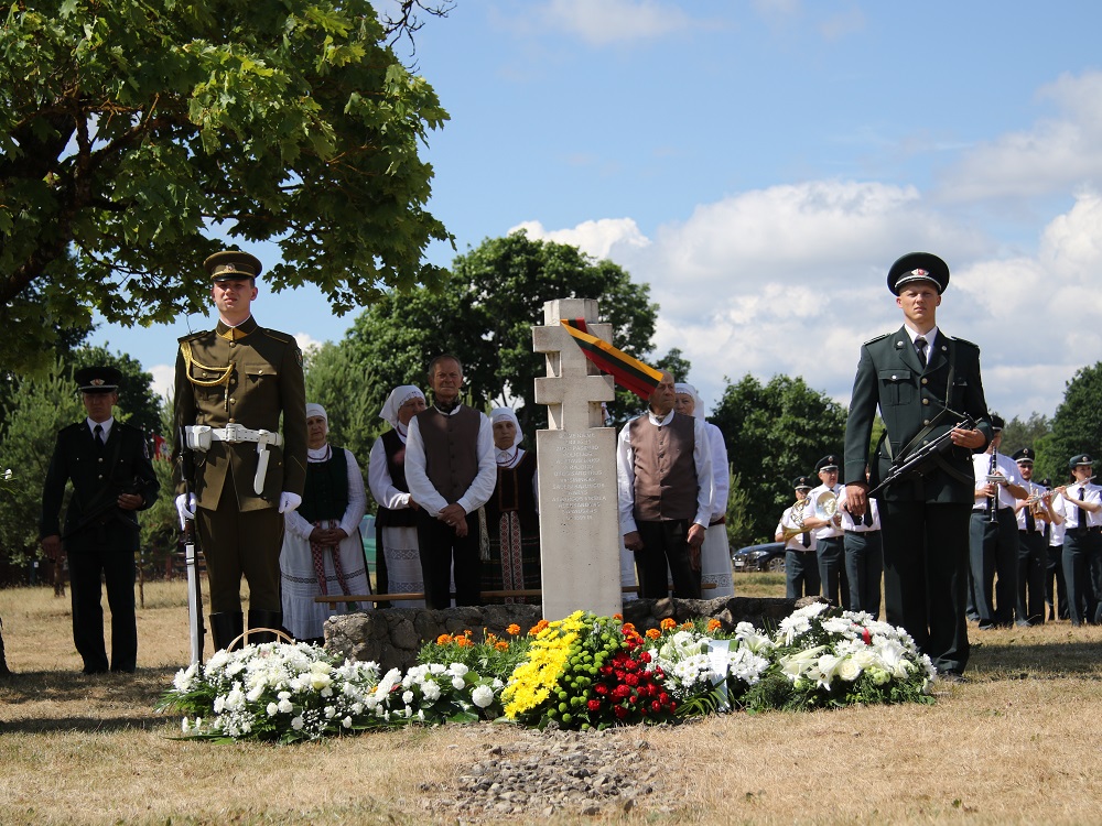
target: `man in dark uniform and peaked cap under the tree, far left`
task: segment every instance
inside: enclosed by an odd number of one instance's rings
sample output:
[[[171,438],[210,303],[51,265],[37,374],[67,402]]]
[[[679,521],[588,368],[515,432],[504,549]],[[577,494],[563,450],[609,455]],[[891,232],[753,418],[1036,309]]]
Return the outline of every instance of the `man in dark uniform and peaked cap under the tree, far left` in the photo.
[[[77,371],[88,417],[58,432],[42,489],[39,536],[55,563],[63,548],[68,557],[73,641],[84,659],[85,674],[108,670],[100,577],[107,583],[111,607],[110,670],[133,672],[137,666],[136,511],[152,506],[161,489],[142,432],[111,415],[120,379],[121,373],[111,367]],[[68,480],[73,497],[62,534],[58,513]]]

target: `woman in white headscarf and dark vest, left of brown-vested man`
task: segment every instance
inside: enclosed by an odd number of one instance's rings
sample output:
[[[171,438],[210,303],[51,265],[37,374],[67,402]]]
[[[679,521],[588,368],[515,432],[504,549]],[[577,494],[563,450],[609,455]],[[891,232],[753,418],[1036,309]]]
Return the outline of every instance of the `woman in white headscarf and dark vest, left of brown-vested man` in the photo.
[[[379,413],[379,419],[390,422],[393,428],[375,441],[367,466],[367,483],[379,503],[375,525],[380,594],[424,593],[413,517],[418,504],[406,483],[406,434],[410,421],[424,409],[424,393],[412,384],[402,384],[390,391]],[[424,599],[399,599],[389,605],[424,608]]]

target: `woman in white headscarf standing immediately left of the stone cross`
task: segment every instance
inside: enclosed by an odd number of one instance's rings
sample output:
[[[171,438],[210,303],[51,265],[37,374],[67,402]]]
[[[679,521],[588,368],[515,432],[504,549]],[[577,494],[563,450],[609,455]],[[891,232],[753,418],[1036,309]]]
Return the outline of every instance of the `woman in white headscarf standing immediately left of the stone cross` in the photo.
[[[536,455],[520,447],[523,434],[510,407],[490,412],[497,454],[497,487],[486,502],[489,561],[483,565],[483,591],[540,588],[539,488]],[[505,597],[487,602],[529,602],[540,597]]]

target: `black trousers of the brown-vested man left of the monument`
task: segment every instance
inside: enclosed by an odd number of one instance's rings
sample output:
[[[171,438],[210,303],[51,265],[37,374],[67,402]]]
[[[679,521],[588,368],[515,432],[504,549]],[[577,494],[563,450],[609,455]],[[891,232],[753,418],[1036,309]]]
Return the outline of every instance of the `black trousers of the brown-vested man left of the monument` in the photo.
[[[479,605],[482,557],[478,554],[478,511],[467,514],[467,535],[457,536],[454,528],[421,508],[417,512],[417,541],[425,606],[447,608],[452,605],[453,576],[455,605]]]

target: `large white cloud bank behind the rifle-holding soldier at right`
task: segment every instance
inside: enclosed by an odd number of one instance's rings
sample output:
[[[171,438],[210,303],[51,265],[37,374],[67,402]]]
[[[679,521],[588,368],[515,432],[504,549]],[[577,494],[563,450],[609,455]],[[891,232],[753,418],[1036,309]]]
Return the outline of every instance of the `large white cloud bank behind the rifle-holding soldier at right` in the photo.
[[[1002,259],[988,239],[936,211],[916,189],[875,183],[744,193],[701,205],[649,241],[630,219],[553,231],[523,226],[564,242],[590,238],[586,251],[608,249],[635,281],[648,282],[660,305],[656,355],[672,347],[685,354],[685,378],[709,409],[724,377],[747,372],[801,376],[847,403],[861,343],[901,324],[887,270],[921,249],[950,262],[939,323],[980,345],[988,403],[1003,415],[1051,415],[1076,369],[1102,359],[1094,324],[1102,315],[1102,198],[1094,194],[1081,194],[1044,228],[1035,254]],[[1069,307],[1084,324],[1070,323]]]

